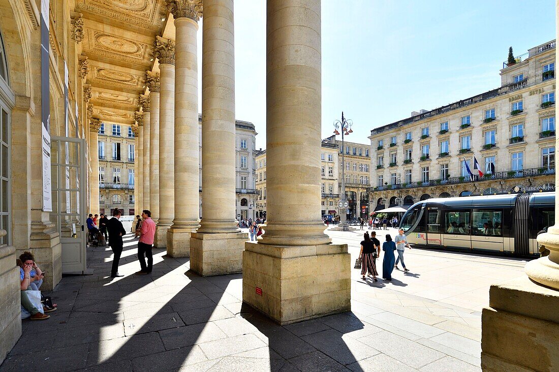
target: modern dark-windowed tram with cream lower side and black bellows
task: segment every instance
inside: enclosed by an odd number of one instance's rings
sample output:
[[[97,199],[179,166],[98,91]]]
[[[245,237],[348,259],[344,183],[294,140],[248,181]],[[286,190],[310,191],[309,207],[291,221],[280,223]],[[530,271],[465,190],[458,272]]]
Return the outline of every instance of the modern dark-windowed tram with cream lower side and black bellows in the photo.
[[[555,223],[555,193],[427,199],[400,221],[411,245],[538,256],[536,236]]]

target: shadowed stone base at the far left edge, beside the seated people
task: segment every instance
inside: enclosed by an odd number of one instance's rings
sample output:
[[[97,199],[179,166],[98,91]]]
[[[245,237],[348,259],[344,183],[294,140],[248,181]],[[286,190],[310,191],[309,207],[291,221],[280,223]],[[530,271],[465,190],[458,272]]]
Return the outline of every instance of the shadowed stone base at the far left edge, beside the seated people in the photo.
[[[0,247],[0,364],[21,336],[21,301],[16,249]]]

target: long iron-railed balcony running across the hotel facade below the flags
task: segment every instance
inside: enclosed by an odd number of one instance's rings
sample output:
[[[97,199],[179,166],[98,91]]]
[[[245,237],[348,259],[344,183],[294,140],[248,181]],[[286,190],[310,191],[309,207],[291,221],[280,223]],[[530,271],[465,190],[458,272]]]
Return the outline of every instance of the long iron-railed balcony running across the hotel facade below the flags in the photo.
[[[539,168],[528,168],[520,170],[505,170],[495,173],[486,173],[483,177],[477,175],[473,176],[473,182],[479,182],[484,180],[496,180],[496,179],[514,179],[514,178],[524,178],[524,177],[535,177],[535,176],[546,176],[555,175],[555,165],[549,167],[539,167]],[[396,190],[396,189],[411,189],[416,187],[433,187],[442,185],[451,185],[459,183],[471,183],[472,179],[470,176],[459,176],[459,177],[448,177],[447,179],[432,179],[429,181],[415,181],[410,183],[401,183],[396,185],[383,185],[376,187],[367,188],[368,192],[377,192],[385,190]]]

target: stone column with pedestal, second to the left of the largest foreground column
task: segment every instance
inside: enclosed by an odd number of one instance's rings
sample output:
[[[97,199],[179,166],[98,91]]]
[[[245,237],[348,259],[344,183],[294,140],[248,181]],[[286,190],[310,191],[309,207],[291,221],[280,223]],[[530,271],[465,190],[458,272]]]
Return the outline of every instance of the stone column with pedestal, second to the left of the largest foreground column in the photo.
[[[169,229],[167,254],[190,256],[190,237],[199,219],[198,195],[198,53],[196,34],[202,4],[172,0],[176,35],[174,97],[174,220]]]

